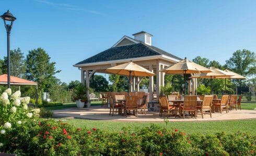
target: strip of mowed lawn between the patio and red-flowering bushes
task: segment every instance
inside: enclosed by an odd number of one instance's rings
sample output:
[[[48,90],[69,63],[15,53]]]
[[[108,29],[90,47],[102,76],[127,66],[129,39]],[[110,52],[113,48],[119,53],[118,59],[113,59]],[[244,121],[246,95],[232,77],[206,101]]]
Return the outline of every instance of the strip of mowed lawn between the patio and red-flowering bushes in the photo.
[[[215,134],[220,132],[236,133],[238,131],[256,135],[256,120],[233,120],[233,121],[197,121],[197,122],[120,122],[120,121],[93,121],[82,119],[68,119],[65,121],[76,127],[100,128],[109,131],[121,131],[122,127],[145,127],[151,124],[156,124],[162,127],[179,129],[187,134],[201,133],[201,134]]]

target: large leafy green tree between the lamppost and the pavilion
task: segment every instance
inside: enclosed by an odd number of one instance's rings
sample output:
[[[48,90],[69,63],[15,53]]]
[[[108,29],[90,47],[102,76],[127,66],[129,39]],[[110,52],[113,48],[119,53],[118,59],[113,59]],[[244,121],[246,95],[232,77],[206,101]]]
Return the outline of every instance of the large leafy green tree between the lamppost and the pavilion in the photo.
[[[56,71],[55,62],[50,62],[50,58],[42,48],[30,50],[27,55],[27,79],[36,81],[40,92],[52,83],[54,74],[60,72]]]

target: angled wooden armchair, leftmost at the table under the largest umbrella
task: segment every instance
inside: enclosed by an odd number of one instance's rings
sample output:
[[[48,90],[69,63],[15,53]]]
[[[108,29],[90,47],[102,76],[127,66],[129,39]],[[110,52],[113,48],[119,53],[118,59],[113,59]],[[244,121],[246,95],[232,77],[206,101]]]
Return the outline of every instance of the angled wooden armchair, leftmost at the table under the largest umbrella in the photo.
[[[167,118],[170,115],[171,110],[174,110],[174,106],[169,106],[167,96],[159,96],[159,115],[162,117],[162,112],[167,112]]]

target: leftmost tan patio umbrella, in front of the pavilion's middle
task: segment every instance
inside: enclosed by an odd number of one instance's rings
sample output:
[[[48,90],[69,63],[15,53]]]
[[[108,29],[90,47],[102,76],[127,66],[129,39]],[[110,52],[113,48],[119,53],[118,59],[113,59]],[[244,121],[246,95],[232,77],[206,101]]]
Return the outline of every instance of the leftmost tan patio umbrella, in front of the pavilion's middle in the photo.
[[[127,75],[129,76],[129,89],[130,89],[130,80],[131,76],[154,76],[155,73],[150,72],[149,70],[138,66],[138,64],[131,62],[123,63],[115,67],[106,69],[106,72],[118,75]],[[129,93],[129,90],[128,90]]]

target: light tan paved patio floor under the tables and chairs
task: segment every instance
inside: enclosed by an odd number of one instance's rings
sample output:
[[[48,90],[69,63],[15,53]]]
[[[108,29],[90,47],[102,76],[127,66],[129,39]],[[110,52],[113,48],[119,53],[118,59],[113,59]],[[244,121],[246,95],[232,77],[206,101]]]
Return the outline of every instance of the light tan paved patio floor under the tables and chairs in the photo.
[[[147,121],[147,122],[157,122],[163,121],[166,118],[166,114],[159,117],[159,112],[147,112],[146,115],[138,112],[138,116],[133,115],[121,116],[114,114],[109,115],[109,108],[102,108],[100,106],[92,106],[91,108],[71,108],[63,110],[55,110],[54,116],[56,118],[75,118],[75,119],[87,119],[87,120],[114,120],[114,121]],[[185,119],[169,117],[169,121],[217,121],[217,120],[242,120],[242,119],[256,119],[256,110],[232,110],[229,113],[224,111],[222,114],[219,112],[212,113],[212,118],[210,114],[205,114],[204,119],[201,115],[197,115],[197,118],[191,118],[191,116],[185,116]]]

